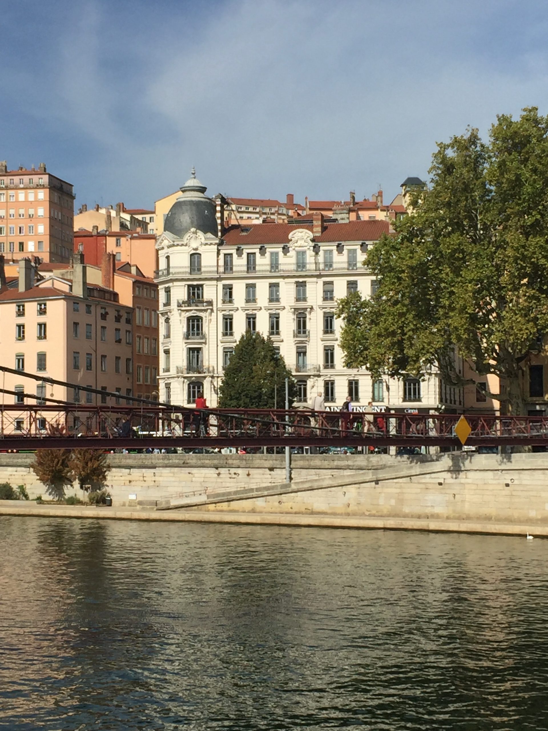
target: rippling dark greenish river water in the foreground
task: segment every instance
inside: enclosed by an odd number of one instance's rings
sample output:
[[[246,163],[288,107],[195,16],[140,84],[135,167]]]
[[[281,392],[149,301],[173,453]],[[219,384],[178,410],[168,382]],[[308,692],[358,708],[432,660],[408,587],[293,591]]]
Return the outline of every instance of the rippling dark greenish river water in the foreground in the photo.
[[[0,728],[548,728],[548,542],[0,518]]]

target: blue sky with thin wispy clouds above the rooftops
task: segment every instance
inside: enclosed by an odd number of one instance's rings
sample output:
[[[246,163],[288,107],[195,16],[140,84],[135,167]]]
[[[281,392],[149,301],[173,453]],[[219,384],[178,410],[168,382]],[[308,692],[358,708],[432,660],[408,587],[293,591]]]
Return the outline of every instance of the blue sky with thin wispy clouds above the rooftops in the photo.
[[[392,200],[438,140],[548,113],[544,0],[4,2],[0,159],[77,205],[209,193]]]

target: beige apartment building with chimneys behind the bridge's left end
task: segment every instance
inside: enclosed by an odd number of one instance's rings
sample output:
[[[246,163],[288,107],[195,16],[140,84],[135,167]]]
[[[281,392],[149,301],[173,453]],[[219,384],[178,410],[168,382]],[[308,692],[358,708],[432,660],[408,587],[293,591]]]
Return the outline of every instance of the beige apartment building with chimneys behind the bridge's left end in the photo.
[[[52,273],[33,286],[31,262],[22,260],[18,288],[0,293],[1,362],[17,371],[116,391],[120,399],[115,403],[123,403],[123,395],[133,394],[133,319],[133,308],[122,305],[116,292],[88,284],[80,262],[72,281]],[[16,374],[5,374],[4,388],[20,394],[4,395],[16,404],[35,404],[43,397],[110,403],[107,396]],[[28,400],[23,393],[36,397]]]

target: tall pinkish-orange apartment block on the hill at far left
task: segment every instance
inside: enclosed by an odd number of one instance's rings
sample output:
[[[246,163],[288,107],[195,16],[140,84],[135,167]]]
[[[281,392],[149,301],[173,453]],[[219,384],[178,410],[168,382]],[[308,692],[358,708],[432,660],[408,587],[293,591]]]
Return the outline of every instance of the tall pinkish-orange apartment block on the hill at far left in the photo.
[[[40,257],[68,262],[72,255],[72,184],[38,169],[8,170],[0,162],[0,254],[7,260]]]

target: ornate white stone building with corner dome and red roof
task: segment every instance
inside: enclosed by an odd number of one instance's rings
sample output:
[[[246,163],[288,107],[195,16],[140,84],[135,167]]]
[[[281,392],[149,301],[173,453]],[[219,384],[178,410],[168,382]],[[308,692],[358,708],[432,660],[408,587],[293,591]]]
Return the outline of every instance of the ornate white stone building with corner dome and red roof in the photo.
[[[216,406],[224,368],[251,329],[272,338],[300,404],[321,390],[333,409],[351,395],[355,407],[373,401],[379,412],[438,410],[435,374],[373,382],[365,370],[343,367],[335,303],[353,290],[374,292],[362,260],[389,231],[387,221],[340,224],[314,213],[308,223],[231,227],[219,235],[222,198],[205,191],[193,170],[156,242],[161,401],[187,406],[203,390]]]

